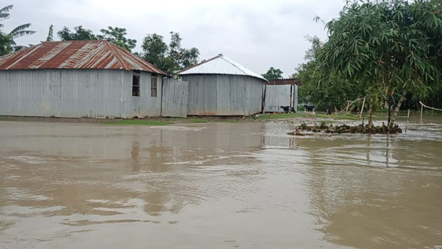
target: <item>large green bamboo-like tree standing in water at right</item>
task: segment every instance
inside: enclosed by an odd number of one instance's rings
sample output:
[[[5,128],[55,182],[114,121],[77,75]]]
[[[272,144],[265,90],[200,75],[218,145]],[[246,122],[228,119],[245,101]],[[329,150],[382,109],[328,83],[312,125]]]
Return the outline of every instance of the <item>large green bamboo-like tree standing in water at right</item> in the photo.
[[[441,40],[434,39],[441,37],[441,9],[439,0],[347,2],[326,25],[329,40],[318,53],[318,68],[368,84],[371,125],[374,98],[399,92],[392,126],[407,91],[425,96],[439,77]]]

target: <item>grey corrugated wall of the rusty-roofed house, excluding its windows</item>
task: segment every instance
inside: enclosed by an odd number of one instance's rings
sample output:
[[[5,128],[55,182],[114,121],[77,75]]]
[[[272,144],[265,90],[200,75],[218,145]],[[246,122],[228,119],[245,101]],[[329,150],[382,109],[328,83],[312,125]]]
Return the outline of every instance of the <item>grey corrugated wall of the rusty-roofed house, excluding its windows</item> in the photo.
[[[142,72],[140,97],[132,96],[132,72],[106,69],[0,71],[0,115],[104,118],[160,116],[151,97],[151,73]]]

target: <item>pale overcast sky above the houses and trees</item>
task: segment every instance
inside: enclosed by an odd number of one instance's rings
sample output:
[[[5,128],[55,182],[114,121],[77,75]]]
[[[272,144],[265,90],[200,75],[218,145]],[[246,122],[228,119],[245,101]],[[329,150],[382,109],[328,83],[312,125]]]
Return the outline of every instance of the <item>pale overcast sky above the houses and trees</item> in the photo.
[[[35,35],[21,37],[17,44],[38,44],[48,35],[68,26],[82,25],[99,34],[101,28],[126,28],[127,38],[137,40],[140,51],[143,37],[157,33],[169,42],[169,32],[182,36],[184,48],[200,50],[200,60],[219,53],[255,71],[265,73],[270,66],[284,76],[294,73],[303,62],[309,43],[305,35],[327,37],[323,24],[337,17],[343,0],[271,1],[131,1],[131,0],[15,0],[10,19],[2,21],[9,32],[19,24],[31,23]],[[0,8],[3,8],[1,6]],[[55,35],[55,39],[59,39]]]

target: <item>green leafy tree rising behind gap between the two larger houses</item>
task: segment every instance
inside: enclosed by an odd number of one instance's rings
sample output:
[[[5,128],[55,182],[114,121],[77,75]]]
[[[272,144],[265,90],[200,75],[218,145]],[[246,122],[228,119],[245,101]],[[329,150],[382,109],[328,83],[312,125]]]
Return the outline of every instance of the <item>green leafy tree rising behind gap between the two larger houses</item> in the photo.
[[[171,32],[169,46],[164,42],[162,35],[151,34],[143,39],[142,57],[157,68],[172,75],[198,62],[200,51],[198,48],[182,48],[179,33]]]

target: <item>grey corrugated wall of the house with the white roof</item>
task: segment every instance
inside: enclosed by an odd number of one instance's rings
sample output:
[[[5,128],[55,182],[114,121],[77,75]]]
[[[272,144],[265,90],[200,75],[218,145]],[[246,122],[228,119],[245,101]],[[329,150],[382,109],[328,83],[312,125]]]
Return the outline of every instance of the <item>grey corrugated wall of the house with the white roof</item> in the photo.
[[[244,75],[183,75],[188,115],[247,116],[261,111],[262,80]]]

